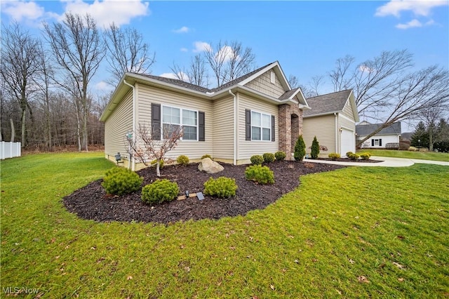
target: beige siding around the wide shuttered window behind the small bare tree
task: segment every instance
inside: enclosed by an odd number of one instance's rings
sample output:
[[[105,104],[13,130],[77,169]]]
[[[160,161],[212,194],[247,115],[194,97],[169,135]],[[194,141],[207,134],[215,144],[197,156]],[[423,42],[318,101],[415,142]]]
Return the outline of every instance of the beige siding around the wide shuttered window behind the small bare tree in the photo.
[[[175,159],[185,154],[189,159],[199,159],[203,154],[213,156],[213,102],[192,95],[175,93],[161,88],[138,84],[138,117],[137,122],[151,124],[151,105],[160,104],[180,109],[190,109],[205,114],[205,141],[182,140],[177,147],[168,152],[167,157]],[[197,114],[198,117],[198,114]],[[138,124],[136,124],[136,128]]]

